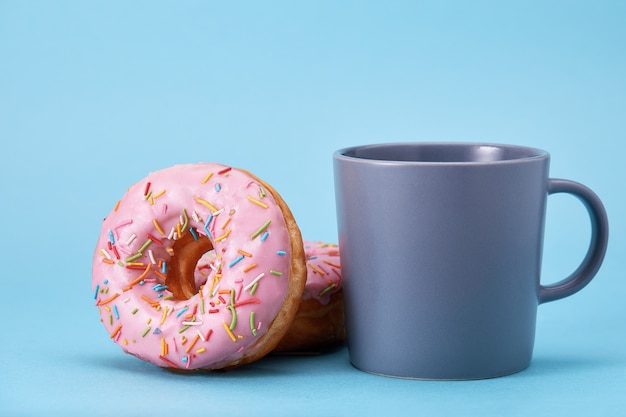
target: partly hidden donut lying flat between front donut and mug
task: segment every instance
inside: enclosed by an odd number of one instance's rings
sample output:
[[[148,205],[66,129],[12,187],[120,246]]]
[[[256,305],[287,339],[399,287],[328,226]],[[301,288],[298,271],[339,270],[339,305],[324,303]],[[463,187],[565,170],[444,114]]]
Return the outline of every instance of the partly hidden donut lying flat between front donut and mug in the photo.
[[[304,241],[307,281],[296,318],[275,353],[319,353],[345,341],[339,248]]]

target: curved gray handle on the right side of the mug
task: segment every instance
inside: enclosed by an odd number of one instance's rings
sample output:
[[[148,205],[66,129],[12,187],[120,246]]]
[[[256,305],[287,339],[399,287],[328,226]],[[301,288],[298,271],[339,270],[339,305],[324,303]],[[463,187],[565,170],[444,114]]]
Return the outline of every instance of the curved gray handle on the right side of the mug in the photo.
[[[600,269],[609,240],[609,221],[600,198],[586,186],[569,180],[549,179],[548,194],[568,193],[577,197],[591,220],[591,242],[580,266],[567,278],[539,285],[539,304],[568,297],[585,287]]]

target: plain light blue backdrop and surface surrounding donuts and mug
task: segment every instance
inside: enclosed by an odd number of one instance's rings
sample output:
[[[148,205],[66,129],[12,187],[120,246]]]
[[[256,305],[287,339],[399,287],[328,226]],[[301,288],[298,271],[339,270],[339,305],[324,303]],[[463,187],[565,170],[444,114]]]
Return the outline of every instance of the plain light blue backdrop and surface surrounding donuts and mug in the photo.
[[[623,415],[624,22],[622,1],[0,2],[0,415]],[[389,141],[544,148],[605,202],[605,264],[540,306],[527,370],[396,380],[340,349],[177,375],[109,340],[91,257],[131,183],[246,168],[306,238],[336,241],[332,152]],[[544,283],[589,229],[550,197]]]

